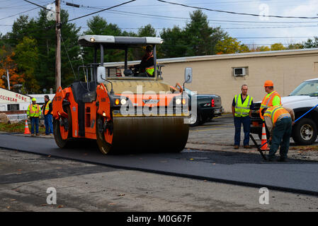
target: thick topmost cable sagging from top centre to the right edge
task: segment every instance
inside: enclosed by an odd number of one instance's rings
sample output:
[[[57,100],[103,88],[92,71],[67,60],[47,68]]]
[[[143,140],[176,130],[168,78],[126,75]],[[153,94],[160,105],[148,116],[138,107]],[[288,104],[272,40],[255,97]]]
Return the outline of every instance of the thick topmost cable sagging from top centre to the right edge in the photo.
[[[244,16],[257,16],[260,17],[259,14],[253,14],[253,13],[237,13],[237,12],[232,12],[232,11],[223,11],[223,10],[217,10],[217,9],[211,9],[211,8],[204,8],[204,7],[198,7],[198,6],[188,6],[185,4],[178,4],[175,2],[170,2],[170,1],[164,1],[164,0],[157,0],[164,2],[166,4],[172,4],[176,6],[184,6],[188,8],[196,8],[196,9],[203,9],[207,11],[215,11],[219,13],[231,13],[231,14],[237,14],[237,15],[244,15]],[[318,17],[307,17],[307,16],[273,16],[273,15],[261,15],[261,17],[274,17],[274,18],[298,18],[298,19],[318,19]]]

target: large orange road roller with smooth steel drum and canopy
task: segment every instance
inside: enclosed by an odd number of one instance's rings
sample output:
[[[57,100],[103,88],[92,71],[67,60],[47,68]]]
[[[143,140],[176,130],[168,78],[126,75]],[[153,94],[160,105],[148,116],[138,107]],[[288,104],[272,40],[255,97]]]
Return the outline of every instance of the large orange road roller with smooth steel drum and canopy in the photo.
[[[189,130],[189,100],[183,89],[192,81],[192,69],[185,69],[183,85],[165,83],[163,65],[157,62],[156,46],[163,42],[159,37],[83,35],[78,42],[92,49],[93,63],[79,66],[82,79],[59,87],[52,101],[59,148],[90,139],[103,154],[183,150]],[[136,49],[147,47],[152,49],[152,73],[127,61]],[[119,66],[104,61],[108,52],[121,52]]]

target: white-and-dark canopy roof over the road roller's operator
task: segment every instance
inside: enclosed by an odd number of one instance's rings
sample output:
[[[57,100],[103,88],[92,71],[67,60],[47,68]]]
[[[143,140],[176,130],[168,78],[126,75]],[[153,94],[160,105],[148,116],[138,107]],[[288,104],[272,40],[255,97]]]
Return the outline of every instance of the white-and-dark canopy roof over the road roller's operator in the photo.
[[[82,35],[79,44],[83,47],[98,47],[106,44],[108,47],[140,47],[145,44],[161,44],[160,37],[124,37],[111,35]]]

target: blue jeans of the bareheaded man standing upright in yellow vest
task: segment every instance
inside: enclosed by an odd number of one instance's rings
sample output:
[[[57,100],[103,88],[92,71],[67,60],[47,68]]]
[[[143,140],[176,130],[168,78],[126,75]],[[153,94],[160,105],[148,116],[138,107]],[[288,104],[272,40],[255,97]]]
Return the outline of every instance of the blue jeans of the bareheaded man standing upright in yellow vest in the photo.
[[[234,117],[235,136],[234,145],[239,145],[241,141],[241,126],[243,124],[244,141],[243,145],[249,145],[249,130],[251,128],[251,119],[246,117]]]

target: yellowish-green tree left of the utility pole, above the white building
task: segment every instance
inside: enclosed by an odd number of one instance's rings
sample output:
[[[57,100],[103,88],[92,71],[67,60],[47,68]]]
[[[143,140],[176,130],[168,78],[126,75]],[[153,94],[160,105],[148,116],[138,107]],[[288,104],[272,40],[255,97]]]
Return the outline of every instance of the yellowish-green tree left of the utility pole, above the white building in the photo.
[[[16,46],[16,63],[18,71],[23,73],[23,87],[28,93],[38,93],[40,86],[35,79],[35,68],[38,63],[38,47],[36,40],[23,37],[22,42]]]

